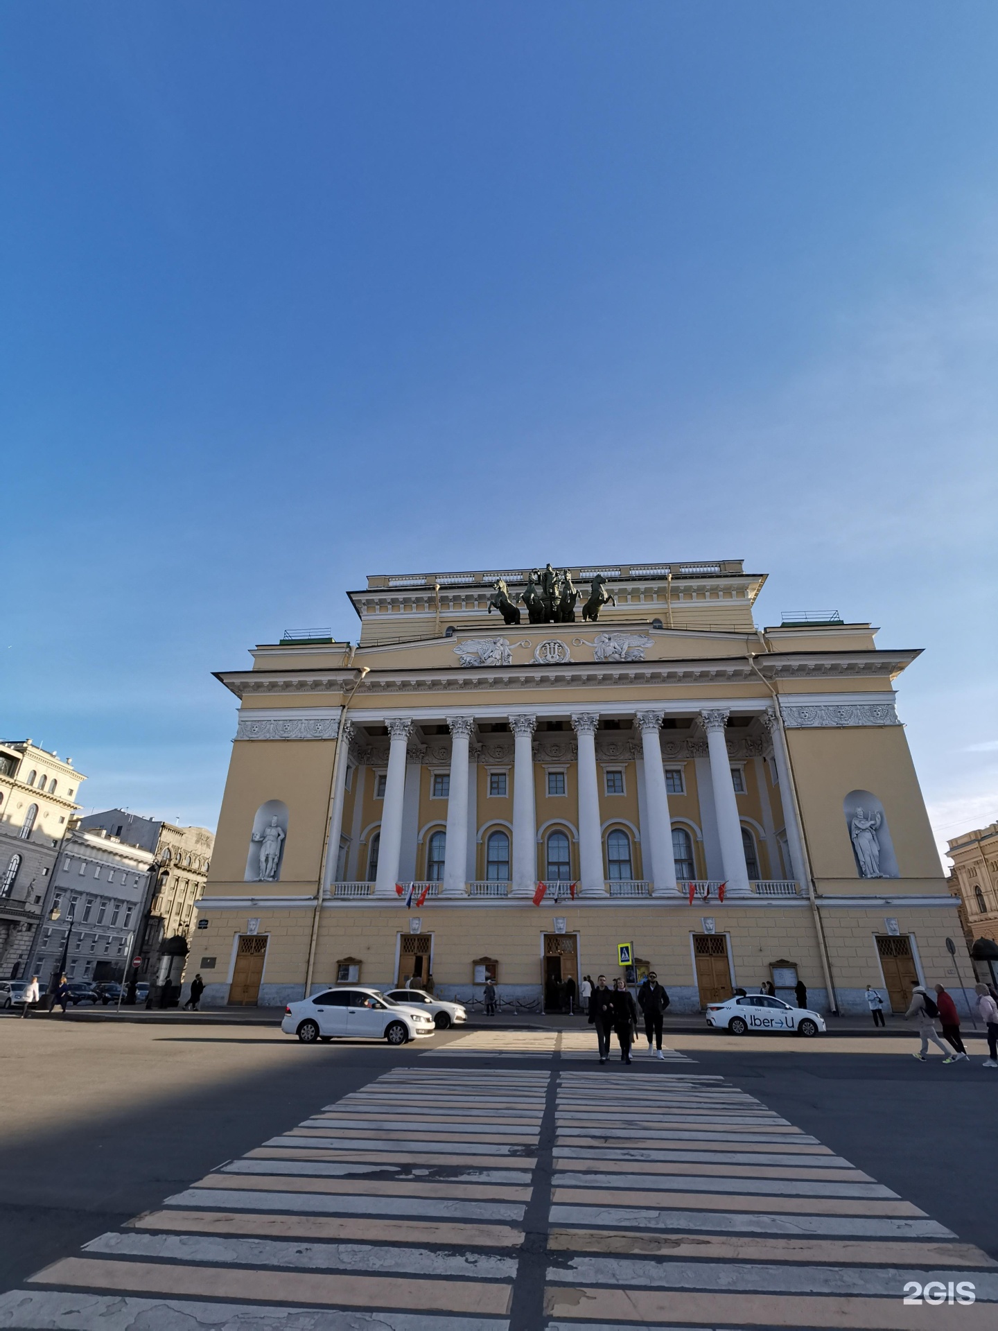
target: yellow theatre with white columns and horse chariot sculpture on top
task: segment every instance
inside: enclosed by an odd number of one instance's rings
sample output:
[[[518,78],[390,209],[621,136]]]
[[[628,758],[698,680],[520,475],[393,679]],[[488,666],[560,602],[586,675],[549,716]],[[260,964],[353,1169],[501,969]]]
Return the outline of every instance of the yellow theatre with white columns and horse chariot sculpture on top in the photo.
[[[530,570],[373,576],[357,646],[286,634],[218,673],[240,711],[205,1002],[432,973],[531,1010],[619,974],[619,944],[675,1010],[800,978],[865,1012],[868,982],[897,1008],[949,977],[896,711],[918,650],[837,615],[756,628],[740,560],[566,574],[554,612]]]

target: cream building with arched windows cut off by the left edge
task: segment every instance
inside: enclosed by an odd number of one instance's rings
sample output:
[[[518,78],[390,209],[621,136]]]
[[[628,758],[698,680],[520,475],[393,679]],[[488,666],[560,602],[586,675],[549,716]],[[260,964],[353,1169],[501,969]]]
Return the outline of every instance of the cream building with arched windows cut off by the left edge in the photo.
[[[86,777],[31,740],[0,741],[0,980],[24,978],[59,848]]]

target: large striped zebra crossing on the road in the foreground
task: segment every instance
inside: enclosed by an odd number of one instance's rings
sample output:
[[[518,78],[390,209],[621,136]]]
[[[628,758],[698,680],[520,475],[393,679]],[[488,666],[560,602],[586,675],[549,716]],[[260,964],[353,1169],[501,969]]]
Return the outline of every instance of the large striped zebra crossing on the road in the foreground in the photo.
[[[397,1067],[0,1296],[0,1328],[998,1322],[998,1263],[723,1077],[554,1053]]]

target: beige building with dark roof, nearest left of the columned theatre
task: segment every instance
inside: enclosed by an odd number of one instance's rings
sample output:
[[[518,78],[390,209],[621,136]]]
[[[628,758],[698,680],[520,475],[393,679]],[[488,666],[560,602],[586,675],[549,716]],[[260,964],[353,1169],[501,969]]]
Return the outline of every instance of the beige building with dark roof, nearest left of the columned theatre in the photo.
[[[128,809],[105,809],[80,819],[81,828],[102,828],[112,837],[149,851],[156,861],[140,929],[138,977],[180,985],[194,929],[197,901],[205,890],[214,836],[208,828],[180,827]]]

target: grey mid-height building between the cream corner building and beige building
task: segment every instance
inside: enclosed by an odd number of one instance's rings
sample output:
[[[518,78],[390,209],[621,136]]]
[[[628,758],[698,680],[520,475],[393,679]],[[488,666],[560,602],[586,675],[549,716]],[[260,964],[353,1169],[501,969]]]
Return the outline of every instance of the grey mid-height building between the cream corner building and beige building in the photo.
[[[63,958],[69,980],[125,977],[154,870],[149,851],[125,845],[102,828],[71,828],[60,845],[35,936],[31,970],[43,989],[59,976]],[[56,920],[53,910],[59,912]]]

